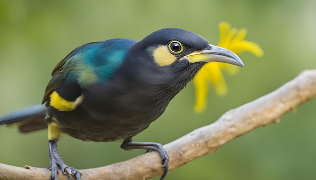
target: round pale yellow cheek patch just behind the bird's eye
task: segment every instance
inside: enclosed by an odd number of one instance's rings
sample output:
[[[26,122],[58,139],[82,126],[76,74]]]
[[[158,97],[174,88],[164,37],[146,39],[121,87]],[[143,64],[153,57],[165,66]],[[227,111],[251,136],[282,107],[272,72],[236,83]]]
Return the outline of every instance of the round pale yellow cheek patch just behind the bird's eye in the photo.
[[[166,46],[159,46],[153,51],[153,58],[156,64],[167,66],[174,63],[177,57],[169,52]]]

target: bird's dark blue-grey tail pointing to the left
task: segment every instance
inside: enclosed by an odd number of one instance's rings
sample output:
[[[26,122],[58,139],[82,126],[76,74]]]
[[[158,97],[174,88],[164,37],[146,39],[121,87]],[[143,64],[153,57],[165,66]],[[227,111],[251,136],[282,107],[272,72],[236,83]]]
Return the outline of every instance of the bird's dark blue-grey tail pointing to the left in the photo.
[[[44,121],[47,114],[45,105],[32,106],[0,117],[0,125],[16,123],[21,132],[31,132],[47,128]]]

